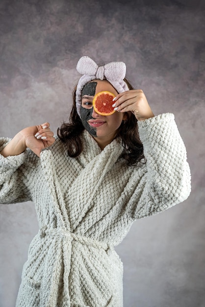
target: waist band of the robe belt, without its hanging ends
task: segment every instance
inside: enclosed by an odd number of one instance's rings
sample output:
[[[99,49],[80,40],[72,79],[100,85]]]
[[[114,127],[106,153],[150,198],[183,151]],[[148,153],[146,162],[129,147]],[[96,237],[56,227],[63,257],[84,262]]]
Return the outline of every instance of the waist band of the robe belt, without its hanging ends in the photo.
[[[95,247],[97,249],[103,249],[105,252],[109,254],[113,247],[105,242],[90,239],[86,236],[75,234],[73,232],[70,232],[69,230],[64,230],[62,228],[47,228],[47,226],[43,226],[39,230],[40,237],[43,238],[45,236],[58,236],[59,238],[65,237],[67,239],[70,239],[71,241],[76,241],[81,244],[85,244],[88,246]]]

